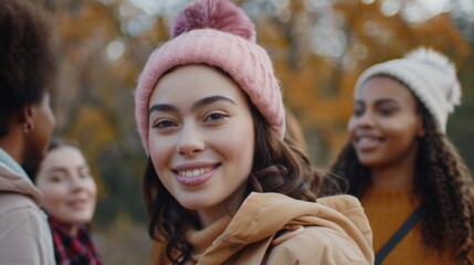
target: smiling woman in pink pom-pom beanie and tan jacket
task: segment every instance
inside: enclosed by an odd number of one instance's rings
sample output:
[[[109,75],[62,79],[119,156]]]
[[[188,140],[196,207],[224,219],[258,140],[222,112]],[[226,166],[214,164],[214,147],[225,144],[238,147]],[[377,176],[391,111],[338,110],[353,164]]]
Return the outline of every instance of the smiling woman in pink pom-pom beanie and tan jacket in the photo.
[[[284,140],[281,87],[254,25],[228,0],[190,3],[135,94],[157,263],[371,264],[371,231],[348,195],[318,200]],[[316,181],[316,186],[319,181]]]

